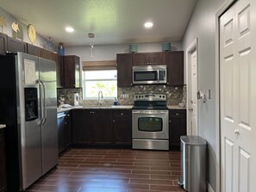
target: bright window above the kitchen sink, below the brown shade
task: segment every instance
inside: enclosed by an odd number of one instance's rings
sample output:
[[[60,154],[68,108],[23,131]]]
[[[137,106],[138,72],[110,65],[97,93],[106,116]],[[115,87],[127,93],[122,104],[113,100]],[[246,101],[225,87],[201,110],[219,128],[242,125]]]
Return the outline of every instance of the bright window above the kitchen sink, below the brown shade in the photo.
[[[116,70],[83,71],[83,75],[84,99],[97,99],[100,90],[104,98],[117,96]]]

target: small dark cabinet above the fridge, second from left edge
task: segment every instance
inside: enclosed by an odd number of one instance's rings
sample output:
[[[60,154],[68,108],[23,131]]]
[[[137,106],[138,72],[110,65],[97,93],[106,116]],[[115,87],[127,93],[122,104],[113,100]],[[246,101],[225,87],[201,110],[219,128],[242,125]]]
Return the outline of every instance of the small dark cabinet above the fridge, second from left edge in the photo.
[[[27,43],[22,40],[16,40],[11,37],[7,37],[7,52],[9,53],[27,53]]]

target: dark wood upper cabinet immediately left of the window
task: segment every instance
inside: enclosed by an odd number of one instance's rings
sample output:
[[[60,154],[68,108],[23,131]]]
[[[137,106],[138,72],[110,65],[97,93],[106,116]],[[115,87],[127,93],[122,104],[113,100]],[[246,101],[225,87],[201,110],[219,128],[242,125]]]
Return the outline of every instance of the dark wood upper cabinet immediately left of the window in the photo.
[[[80,59],[75,55],[63,56],[64,88],[80,87]]]

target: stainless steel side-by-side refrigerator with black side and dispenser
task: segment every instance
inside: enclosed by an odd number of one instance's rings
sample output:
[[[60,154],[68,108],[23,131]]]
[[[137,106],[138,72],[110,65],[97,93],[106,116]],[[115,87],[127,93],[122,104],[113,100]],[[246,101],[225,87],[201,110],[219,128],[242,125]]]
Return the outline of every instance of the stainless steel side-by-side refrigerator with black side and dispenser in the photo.
[[[0,56],[0,90],[7,187],[25,190],[58,161],[55,62],[26,53]]]

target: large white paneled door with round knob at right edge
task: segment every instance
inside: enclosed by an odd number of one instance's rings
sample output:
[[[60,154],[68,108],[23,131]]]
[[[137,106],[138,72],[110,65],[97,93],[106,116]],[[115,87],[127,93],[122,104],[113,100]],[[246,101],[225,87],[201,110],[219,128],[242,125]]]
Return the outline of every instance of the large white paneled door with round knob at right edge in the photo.
[[[222,191],[253,192],[256,177],[256,2],[220,19]]]

